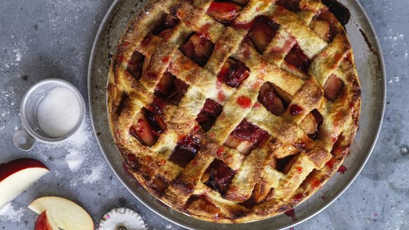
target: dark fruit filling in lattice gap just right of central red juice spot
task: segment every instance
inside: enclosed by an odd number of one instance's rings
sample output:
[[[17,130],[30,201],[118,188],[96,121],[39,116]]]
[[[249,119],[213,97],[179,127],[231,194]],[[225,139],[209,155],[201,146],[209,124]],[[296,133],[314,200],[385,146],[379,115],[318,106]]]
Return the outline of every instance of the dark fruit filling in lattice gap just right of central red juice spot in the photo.
[[[289,95],[272,83],[264,83],[261,86],[257,100],[265,109],[277,116],[284,112],[290,102]]]

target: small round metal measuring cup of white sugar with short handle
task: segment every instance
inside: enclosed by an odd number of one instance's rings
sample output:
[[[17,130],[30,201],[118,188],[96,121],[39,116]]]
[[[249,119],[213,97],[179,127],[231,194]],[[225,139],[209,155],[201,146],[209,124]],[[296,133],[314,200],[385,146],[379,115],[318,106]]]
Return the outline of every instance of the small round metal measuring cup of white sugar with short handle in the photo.
[[[79,90],[62,79],[45,79],[22,97],[23,129],[13,135],[14,144],[31,149],[35,140],[58,143],[68,140],[85,119],[85,102]]]

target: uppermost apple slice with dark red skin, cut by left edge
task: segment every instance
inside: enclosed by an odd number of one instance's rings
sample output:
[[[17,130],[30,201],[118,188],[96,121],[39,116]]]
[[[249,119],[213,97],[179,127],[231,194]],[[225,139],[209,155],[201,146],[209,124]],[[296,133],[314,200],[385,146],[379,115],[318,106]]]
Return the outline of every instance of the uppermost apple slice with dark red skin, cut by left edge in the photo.
[[[0,164],[0,207],[12,201],[47,172],[46,165],[30,158]]]

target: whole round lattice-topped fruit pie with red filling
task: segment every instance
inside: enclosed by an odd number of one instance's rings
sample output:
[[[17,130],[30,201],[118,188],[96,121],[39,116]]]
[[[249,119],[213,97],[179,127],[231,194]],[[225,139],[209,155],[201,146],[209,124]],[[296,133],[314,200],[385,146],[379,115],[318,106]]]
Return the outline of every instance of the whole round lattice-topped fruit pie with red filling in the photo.
[[[109,122],[127,169],[191,217],[291,210],[335,174],[361,90],[319,0],[148,1],[118,41]]]

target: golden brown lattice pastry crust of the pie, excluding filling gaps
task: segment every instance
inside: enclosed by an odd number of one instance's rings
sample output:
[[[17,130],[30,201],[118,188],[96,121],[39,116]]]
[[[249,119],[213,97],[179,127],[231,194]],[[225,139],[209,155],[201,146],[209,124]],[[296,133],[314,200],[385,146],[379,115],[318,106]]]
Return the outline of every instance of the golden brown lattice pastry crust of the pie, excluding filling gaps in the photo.
[[[317,0],[301,0],[302,10],[296,13],[277,6],[275,1],[248,1],[235,19],[237,25],[250,22],[257,15],[265,15],[280,25],[263,54],[244,42],[247,28],[225,26],[210,17],[206,13],[210,4],[212,1],[197,0],[194,4],[176,0],[148,1],[130,22],[118,42],[109,72],[111,132],[132,175],[172,208],[209,222],[265,219],[312,196],[347,156],[361,109],[352,48],[338,22],[334,25],[338,33],[330,43],[324,41],[322,34],[317,34],[325,23],[310,26],[319,13],[326,11],[326,6]],[[146,42],[146,34],[154,29],[164,13],[176,16],[178,24],[166,36],[151,34]],[[205,34],[214,43],[213,53],[204,67],[179,50],[193,32]],[[296,44],[311,61],[307,72],[290,67],[284,60]],[[127,71],[134,50],[144,55],[146,62],[140,79]],[[217,81],[229,57],[250,70],[238,88]],[[147,147],[132,136],[130,128],[141,109],[148,109],[155,101],[153,92],[165,72],[187,83],[188,88],[177,106],[165,105],[160,116],[166,128],[155,144]],[[327,100],[323,91],[331,74],[338,76],[343,85],[342,93],[334,101]],[[273,83],[291,98],[280,116],[257,102],[258,90],[265,82]],[[237,104],[242,96],[249,98],[251,108]],[[198,128],[195,119],[207,98],[223,105],[223,111],[205,132]],[[294,113],[293,106],[301,106],[302,112]],[[317,139],[312,140],[300,123],[315,110],[323,120]],[[249,154],[223,145],[243,119],[270,135],[267,144]],[[169,156],[186,135],[195,138],[199,150],[182,167],[169,161]],[[291,159],[279,170],[277,161],[282,158]],[[215,159],[234,172],[223,192],[202,181]]]

